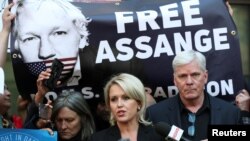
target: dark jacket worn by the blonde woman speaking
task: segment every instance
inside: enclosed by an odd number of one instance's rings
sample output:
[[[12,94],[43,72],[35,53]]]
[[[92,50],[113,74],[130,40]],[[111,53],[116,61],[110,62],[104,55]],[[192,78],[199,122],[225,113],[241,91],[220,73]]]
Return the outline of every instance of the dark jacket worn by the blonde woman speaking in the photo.
[[[94,133],[90,141],[118,141],[121,134],[118,126],[112,126],[100,132]],[[164,141],[164,138],[156,133],[152,126],[140,124],[137,141]]]

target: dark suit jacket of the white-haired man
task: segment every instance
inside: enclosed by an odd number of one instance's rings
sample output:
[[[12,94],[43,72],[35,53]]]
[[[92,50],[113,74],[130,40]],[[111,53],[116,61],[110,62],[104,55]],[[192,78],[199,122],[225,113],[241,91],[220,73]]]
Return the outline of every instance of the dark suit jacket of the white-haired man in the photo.
[[[241,124],[240,110],[233,104],[208,95],[210,124]],[[166,122],[182,128],[178,95],[163,100],[147,109],[146,117],[153,123]]]

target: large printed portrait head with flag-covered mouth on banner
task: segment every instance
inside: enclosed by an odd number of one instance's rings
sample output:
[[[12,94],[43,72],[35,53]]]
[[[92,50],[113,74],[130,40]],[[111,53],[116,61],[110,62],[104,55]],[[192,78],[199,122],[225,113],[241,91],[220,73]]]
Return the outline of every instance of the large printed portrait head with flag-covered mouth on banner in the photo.
[[[12,12],[16,14],[14,48],[28,70],[38,76],[57,58],[64,64],[61,80],[78,85],[79,49],[88,46],[90,19],[63,0],[18,0]]]

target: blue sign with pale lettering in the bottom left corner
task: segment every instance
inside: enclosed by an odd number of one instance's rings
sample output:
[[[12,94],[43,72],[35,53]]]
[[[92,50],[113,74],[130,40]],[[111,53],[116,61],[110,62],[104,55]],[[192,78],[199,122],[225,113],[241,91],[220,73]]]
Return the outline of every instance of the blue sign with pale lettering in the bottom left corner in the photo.
[[[0,141],[57,141],[57,132],[50,135],[46,130],[2,128]]]

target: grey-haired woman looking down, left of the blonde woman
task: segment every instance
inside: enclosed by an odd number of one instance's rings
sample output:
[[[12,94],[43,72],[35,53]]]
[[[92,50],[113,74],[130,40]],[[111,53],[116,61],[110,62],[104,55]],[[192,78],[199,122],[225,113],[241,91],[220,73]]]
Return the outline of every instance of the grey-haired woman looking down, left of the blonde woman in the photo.
[[[53,104],[51,121],[55,124],[59,141],[89,141],[95,132],[88,104],[76,91],[63,91],[58,96]]]

